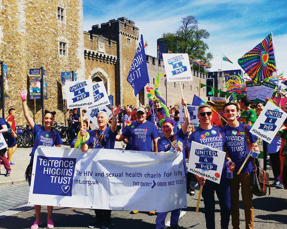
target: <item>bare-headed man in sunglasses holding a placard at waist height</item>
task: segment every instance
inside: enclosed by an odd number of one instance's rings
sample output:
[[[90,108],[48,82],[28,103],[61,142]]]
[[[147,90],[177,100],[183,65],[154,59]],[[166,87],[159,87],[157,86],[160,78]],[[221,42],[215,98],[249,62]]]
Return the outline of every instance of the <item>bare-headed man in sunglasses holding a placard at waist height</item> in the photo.
[[[200,144],[216,148],[223,151],[223,145],[225,143],[224,132],[221,132],[219,127],[211,125],[212,111],[211,107],[207,104],[201,104],[197,109],[197,117],[200,122],[200,127],[195,130],[189,136],[188,140],[188,156],[190,153],[191,142],[198,142]],[[226,153],[225,159],[230,160],[228,153]],[[230,169],[234,169],[235,164],[230,166]],[[222,168],[222,174],[220,184],[214,183],[210,180],[206,180],[204,177],[195,175],[202,188],[202,197],[204,200],[205,221],[206,228],[215,229],[215,200],[214,191],[217,194],[220,205],[221,215],[221,228],[228,228],[230,218],[230,190],[229,181],[226,176],[226,165],[224,163]]]

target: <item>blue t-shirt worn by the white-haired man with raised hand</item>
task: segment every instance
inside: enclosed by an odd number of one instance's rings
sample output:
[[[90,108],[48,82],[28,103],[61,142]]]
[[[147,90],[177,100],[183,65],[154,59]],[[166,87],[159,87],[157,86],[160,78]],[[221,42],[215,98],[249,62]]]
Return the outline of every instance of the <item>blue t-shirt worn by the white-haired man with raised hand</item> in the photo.
[[[105,130],[92,130],[90,139],[86,142],[90,148],[113,149],[115,147],[117,132],[113,133],[110,127]]]

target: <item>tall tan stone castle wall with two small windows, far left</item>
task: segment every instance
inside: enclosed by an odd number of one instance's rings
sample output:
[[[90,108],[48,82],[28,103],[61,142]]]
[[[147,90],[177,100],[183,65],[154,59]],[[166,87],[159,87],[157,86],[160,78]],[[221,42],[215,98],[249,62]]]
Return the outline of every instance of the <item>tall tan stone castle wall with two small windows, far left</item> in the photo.
[[[57,20],[57,6],[65,9],[65,22]],[[45,109],[55,110],[56,121],[64,122],[61,72],[84,73],[82,0],[7,0],[0,7],[0,59],[8,67],[9,99],[5,116],[16,109],[16,123],[25,124],[19,88],[29,90],[29,68],[47,71],[48,99]],[[59,41],[67,42],[67,56],[59,55]],[[29,96],[29,93],[28,93]],[[29,113],[42,124],[41,99],[28,99]]]

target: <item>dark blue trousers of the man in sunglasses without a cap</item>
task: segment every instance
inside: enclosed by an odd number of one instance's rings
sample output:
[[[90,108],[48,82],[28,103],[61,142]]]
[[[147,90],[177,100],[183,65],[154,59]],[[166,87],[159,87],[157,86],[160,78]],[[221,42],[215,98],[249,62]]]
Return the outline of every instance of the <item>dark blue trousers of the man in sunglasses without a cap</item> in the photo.
[[[230,205],[231,205],[231,196],[229,189],[229,180],[228,178],[221,178],[220,184],[214,183],[212,181],[206,180],[202,188],[202,197],[204,201],[204,210],[205,210],[205,221],[207,229],[215,229],[215,200],[214,200],[214,191],[219,199],[220,205],[220,225],[222,228],[228,228],[230,220]]]

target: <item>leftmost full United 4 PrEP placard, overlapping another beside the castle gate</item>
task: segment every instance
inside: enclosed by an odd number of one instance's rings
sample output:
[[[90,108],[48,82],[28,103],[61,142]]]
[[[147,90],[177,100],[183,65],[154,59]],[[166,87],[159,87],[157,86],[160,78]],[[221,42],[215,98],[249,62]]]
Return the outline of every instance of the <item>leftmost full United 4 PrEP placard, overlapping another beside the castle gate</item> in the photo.
[[[88,107],[93,104],[92,80],[66,82],[67,108]]]

